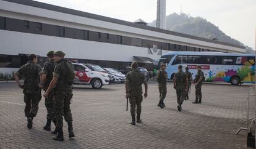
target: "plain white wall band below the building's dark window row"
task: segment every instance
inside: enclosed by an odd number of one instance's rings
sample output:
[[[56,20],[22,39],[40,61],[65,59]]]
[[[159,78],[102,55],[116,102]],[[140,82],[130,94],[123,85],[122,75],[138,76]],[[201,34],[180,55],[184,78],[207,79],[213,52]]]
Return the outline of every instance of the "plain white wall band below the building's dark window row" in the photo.
[[[148,54],[146,47],[59,38],[6,30],[0,30],[0,35],[0,54],[18,55],[34,53],[45,56],[49,50],[63,50],[67,58],[119,62],[132,62],[134,56],[150,57],[152,59],[160,58],[160,55]],[[169,51],[163,50],[162,52],[164,54]]]

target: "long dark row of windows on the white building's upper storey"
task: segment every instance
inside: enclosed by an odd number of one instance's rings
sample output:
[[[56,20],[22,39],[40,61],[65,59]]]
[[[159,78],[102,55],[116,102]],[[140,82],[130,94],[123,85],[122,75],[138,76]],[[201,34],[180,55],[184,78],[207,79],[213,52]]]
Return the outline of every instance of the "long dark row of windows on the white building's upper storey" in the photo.
[[[157,46],[157,49],[174,51],[215,51],[200,49],[197,47],[182,46],[166,42],[150,41],[147,39],[132,38],[116,34],[101,33],[96,31],[69,28],[66,26],[50,25],[40,22],[30,22],[15,18],[0,17],[0,30],[19,31],[23,33],[43,34],[63,38],[82,39],[89,41],[108,42],[112,44],[124,44],[128,46],[150,47]]]

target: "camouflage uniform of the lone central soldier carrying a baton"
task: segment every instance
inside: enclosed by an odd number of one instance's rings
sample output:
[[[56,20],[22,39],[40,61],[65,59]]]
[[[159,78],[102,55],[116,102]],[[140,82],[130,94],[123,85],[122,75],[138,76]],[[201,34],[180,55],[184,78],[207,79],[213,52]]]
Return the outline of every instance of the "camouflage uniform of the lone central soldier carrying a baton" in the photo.
[[[142,83],[146,82],[145,76],[139,70],[133,69],[127,74],[126,81],[129,83],[130,115],[135,117],[136,107],[137,115],[140,115],[142,112]]]

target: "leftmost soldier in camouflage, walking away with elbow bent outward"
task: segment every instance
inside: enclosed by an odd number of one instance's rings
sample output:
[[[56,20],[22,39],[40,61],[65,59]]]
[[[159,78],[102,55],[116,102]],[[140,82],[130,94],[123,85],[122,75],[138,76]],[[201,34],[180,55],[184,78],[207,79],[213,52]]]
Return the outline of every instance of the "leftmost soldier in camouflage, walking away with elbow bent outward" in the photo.
[[[23,89],[25,105],[25,116],[27,117],[27,127],[32,128],[33,117],[38,111],[38,103],[41,100],[41,89],[39,88],[41,66],[37,65],[37,56],[35,54],[28,55],[29,62],[21,66],[14,73],[14,78],[21,89]],[[24,84],[20,84],[20,77],[25,78]]]

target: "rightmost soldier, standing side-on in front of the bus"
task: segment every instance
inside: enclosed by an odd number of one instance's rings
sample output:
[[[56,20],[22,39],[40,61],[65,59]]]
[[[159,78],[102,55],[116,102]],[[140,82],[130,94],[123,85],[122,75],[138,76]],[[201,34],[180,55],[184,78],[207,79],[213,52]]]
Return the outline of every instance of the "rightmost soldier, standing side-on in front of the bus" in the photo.
[[[203,71],[201,66],[197,66],[197,74],[195,75],[195,101],[192,103],[202,103],[202,85],[203,85]],[[198,101],[199,98],[199,101]]]

